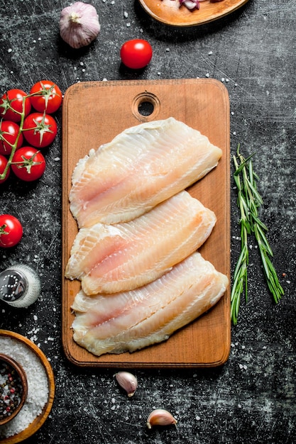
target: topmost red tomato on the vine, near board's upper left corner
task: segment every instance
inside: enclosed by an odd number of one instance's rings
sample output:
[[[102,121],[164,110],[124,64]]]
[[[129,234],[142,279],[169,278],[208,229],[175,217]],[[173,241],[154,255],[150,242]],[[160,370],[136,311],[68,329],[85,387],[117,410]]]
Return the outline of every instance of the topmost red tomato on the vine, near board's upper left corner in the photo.
[[[46,111],[52,114],[60,108],[62,104],[62,91],[50,80],[41,80],[31,88],[30,94],[39,93],[30,97],[31,104],[36,111]]]

